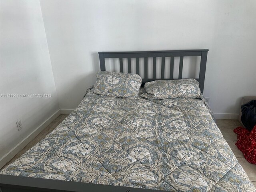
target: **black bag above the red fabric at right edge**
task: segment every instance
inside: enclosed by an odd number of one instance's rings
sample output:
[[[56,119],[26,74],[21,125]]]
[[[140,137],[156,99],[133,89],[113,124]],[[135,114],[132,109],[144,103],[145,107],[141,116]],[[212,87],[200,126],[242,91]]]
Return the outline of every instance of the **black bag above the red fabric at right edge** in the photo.
[[[251,100],[250,102],[242,105],[241,109],[241,121],[245,128],[251,131],[256,125],[256,100]]]

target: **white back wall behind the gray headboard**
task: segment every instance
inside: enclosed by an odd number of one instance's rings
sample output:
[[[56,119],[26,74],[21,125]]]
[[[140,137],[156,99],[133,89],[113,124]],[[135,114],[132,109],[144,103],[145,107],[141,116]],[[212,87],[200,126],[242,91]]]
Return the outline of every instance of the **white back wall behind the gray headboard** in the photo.
[[[204,95],[238,114],[256,95],[256,1],[40,1],[61,109],[99,70],[98,51],[208,48]]]

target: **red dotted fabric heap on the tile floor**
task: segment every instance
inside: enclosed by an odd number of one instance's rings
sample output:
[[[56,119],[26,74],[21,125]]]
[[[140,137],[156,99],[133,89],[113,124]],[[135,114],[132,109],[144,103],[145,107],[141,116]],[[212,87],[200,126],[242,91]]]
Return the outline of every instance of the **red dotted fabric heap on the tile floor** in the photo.
[[[234,132],[237,134],[237,148],[248,162],[256,164],[256,125],[251,132],[243,127],[235,128]]]

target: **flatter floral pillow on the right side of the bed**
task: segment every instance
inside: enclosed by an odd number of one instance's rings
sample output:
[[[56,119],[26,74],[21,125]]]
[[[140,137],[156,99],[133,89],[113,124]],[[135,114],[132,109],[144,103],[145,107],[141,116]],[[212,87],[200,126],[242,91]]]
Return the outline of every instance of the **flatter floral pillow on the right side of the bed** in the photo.
[[[144,85],[144,98],[200,98],[199,82],[195,79],[156,80]]]

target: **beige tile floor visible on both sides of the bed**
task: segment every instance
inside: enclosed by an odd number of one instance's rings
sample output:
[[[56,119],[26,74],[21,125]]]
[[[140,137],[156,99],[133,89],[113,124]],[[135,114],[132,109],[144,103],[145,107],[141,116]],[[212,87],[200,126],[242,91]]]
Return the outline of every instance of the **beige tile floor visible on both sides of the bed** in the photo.
[[[48,125],[36,138],[34,138],[27,146],[25,146],[14,158],[12,158],[4,167],[6,167],[8,164],[19,158],[24,152],[26,152],[28,149],[30,149],[32,146],[34,146],[36,143],[41,141],[49,132],[54,130],[58,124],[60,124],[64,118],[66,118],[68,115],[60,115],[58,116],[50,125]],[[228,120],[228,119],[217,119],[216,124],[220,128],[220,131],[222,132],[224,138],[228,142],[230,148],[234,152],[236,158],[238,159],[239,163],[242,165],[244,170],[246,171],[247,175],[249,176],[250,180],[256,186],[256,165],[250,164],[246,161],[244,158],[244,155],[238,148],[236,148],[236,134],[233,132],[234,128],[241,126],[240,122],[238,120]]]

